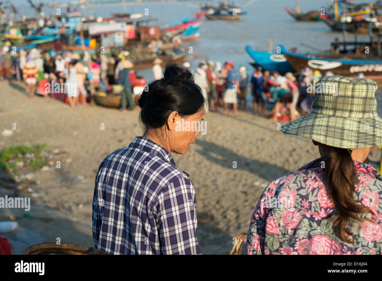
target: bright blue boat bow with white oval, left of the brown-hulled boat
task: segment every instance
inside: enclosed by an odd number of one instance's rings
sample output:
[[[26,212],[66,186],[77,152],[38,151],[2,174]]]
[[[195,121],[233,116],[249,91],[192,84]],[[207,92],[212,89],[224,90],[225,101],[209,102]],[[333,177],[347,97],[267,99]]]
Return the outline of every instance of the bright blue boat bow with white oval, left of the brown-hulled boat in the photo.
[[[295,72],[293,67],[287,62],[283,54],[270,54],[253,50],[251,46],[245,47],[248,55],[254,59],[255,63],[263,69],[278,71],[280,73]]]

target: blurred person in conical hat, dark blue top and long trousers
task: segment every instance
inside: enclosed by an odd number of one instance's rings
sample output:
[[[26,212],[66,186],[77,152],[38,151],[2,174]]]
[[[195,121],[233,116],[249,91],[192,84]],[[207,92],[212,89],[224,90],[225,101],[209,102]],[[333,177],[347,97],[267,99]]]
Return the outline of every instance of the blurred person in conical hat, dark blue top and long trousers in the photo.
[[[131,83],[129,80],[130,69],[133,68],[134,64],[129,60],[125,60],[122,63],[123,69],[118,73],[118,84],[123,87],[121,92],[121,107],[122,112],[128,112],[126,107],[126,100],[131,111],[138,111],[135,109],[135,103],[133,101],[133,91],[131,91]]]

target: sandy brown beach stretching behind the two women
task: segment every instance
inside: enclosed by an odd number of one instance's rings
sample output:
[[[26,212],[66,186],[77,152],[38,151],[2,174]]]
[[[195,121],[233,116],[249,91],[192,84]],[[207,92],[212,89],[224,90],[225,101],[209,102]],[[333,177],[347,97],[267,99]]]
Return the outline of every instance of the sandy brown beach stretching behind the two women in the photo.
[[[65,212],[68,220],[83,224],[91,233],[95,174],[105,156],[142,135],[138,113],[95,104],[70,108],[39,96],[29,99],[25,88],[23,83],[0,81],[0,131],[17,125],[10,136],[0,136],[0,150],[47,143],[54,164],[32,172],[29,191],[15,188],[15,192],[32,198],[31,210],[38,206]],[[173,158],[195,187],[202,253],[228,254],[233,237],[248,231],[265,186],[319,153],[310,140],[284,135],[277,130],[277,122],[252,110],[239,110],[236,115],[211,112],[204,120],[207,133],[200,134],[185,155],[173,154]],[[9,191],[9,185],[0,186],[2,193]],[[38,232],[38,226],[32,230]],[[51,231],[54,236],[55,230]],[[85,246],[94,247],[87,241]]]

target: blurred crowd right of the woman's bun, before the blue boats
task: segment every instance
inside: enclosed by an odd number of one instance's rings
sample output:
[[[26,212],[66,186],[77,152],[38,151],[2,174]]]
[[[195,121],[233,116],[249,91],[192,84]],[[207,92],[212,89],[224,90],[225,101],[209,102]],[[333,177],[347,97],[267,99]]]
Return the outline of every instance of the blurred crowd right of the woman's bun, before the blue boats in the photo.
[[[190,64],[185,62],[183,67],[188,69]],[[331,75],[331,71],[325,73],[325,76]],[[232,62],[226,62],[222,67],[222,63],[209,60],[199,63],[194,77],[208,100],[206,112],[210,109],[219,111],[218,107],[222,106],[223,114],[229,111],[236,114],[238,108],[247,110],[248,101],[252,100],[250,107],[254,112],[273,120],[293,121],[309,113],[315,96],[314,91],[308,91],[309,84],[314,89],[314,83],[322,77],[322,73],[305,67],[297,79],[291,72],[282,75],[278,71],[270,72],[258,67],[249,76],[246,67],[241,66],[237,75]]]

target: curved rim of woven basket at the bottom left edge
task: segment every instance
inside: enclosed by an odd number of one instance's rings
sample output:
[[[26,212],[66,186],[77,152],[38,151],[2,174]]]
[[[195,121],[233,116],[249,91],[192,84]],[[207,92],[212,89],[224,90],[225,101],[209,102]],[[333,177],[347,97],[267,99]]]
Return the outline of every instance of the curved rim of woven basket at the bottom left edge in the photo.
[[[84,247],[76,244],[47,242],[29,246],[21,255],[110,255],[109,253],[95,250],[93,247]]]

